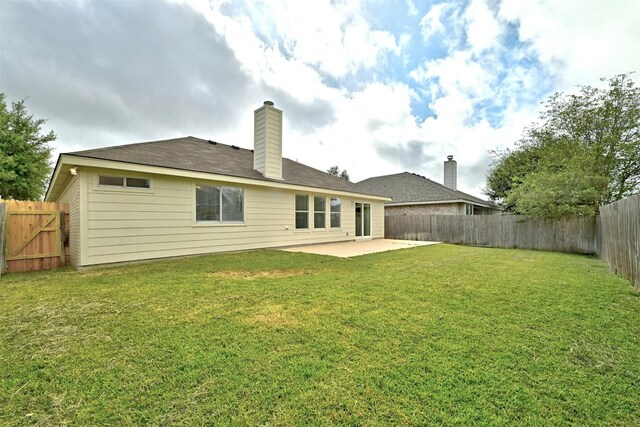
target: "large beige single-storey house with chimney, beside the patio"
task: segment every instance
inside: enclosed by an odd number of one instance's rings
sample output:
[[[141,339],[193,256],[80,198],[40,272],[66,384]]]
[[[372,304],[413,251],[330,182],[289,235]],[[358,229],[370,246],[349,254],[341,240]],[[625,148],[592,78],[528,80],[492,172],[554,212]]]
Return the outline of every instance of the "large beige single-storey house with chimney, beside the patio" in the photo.
[[[254,149],[194,137],[61,154],[45,199],[69,204],[75,268],[384,237],[384,202],[282,158],[282,111]]]

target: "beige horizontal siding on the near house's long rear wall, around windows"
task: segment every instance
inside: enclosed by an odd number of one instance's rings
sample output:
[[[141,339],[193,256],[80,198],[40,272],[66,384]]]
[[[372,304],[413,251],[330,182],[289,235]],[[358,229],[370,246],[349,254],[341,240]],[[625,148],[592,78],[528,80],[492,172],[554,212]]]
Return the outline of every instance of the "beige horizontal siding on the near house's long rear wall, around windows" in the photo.
[[[339,229],[295,230],[296,192],[243,186],[244,223],[204,225],[195,222],[195,181],[136,175],[150,178],[152,188],[106,189],[97,185],[98,172],[93,171],[87,177],[86,235],[83,236],[86,258],[83,257],[82,265],[354,239],[352,202],[355,199],[341,197]],[[124,175],[132,176],[131,173]],[[302,194],[326,196],[327,202],[335,196],[311,191]],[[383,202],[357,201],[371,203],[372,237],[384,237]],[[312,218],[311,211],[311,224]],[[326,221],[329,224],[328,206]]]

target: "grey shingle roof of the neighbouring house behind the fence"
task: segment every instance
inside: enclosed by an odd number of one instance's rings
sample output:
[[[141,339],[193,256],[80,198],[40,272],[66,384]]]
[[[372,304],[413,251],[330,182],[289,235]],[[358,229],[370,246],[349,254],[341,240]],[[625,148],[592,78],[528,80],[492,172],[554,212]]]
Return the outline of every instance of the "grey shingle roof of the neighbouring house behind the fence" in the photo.
[[[410,172],[368,178],[355,185],[360,191],[391,197],[393,201],[387,203],[435,203],[464,200],[498,208],[491,202],[462,191],[452,190],[442,184]]]

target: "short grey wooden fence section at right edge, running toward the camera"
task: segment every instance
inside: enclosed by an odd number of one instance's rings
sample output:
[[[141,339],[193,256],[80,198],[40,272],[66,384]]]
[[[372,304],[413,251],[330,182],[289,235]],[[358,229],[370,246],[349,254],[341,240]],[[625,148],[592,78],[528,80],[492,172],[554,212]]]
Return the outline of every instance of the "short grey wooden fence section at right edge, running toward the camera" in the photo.
[[[640,194],[600,208],[601,257],[640,290]]]

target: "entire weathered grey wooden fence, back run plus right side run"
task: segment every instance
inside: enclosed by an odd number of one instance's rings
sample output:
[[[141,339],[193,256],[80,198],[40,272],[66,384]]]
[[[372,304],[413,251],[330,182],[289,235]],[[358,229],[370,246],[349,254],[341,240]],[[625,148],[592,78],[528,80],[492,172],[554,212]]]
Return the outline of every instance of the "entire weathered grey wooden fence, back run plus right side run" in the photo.
[[[388,239],[492,248],[597,254],[640,290],[640,194],[600,208],[599,216],[560,219],[519,215],[385,217]]]

